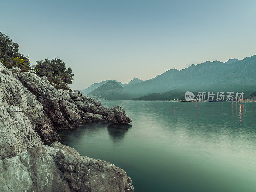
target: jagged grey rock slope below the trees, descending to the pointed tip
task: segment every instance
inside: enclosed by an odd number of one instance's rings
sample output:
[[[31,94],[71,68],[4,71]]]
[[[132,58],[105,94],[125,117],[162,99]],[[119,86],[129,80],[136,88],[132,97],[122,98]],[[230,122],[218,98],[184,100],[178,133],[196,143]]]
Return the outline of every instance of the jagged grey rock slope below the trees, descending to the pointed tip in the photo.
[[[109,113],[112,122],[131,122],[125,114],[113,113],[100,101],[86,97],[78,90],[57,90],[45,76],[40,78],[32,72],[21,72],[20,68],[12,69],[13,74],[0,63],[0,99],[4,105],[21,108],[44,142],[60,140],[57,130],[91,121],[104,121]]]

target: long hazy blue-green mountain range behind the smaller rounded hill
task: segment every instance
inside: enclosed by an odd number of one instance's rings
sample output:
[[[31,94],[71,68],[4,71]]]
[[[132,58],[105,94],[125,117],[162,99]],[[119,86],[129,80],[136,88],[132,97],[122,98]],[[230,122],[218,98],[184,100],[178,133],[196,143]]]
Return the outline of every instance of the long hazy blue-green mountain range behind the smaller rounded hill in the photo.
[[[108,81],[92,84],[81,92],[86,95],[86,92],[88,93]],[[176,97],[177,90],[184,90],[184,92],[188,90],[192,92],[201,90],[206,92],[230,90],[254,92],[256,90],[256,55],[243,60],[229,59],[225,63],[206,61],[196,66],[193,64],[182,70],[170,69],[147,81],[135,78],[128,84],[117,83],[136,100],[140,97],[142,97],[140,100],[159,100],[146,98],[165,98],[168,94],[169,96],[173,94]]]

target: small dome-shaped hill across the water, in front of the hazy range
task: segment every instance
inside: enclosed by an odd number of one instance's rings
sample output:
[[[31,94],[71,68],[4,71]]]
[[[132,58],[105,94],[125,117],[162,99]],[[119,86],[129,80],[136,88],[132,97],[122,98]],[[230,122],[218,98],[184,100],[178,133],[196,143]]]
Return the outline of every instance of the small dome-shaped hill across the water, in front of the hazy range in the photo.
[[[112,80],[89,92],[87,96],[97,100],[130,100],[133,97],[118,82]]]

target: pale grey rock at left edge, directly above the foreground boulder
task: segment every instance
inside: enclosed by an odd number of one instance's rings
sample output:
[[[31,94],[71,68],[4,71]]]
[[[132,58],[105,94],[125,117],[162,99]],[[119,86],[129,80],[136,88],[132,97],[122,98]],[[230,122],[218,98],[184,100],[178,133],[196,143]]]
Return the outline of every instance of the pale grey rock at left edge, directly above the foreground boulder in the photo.
[[[28,117],[16,106],[0,106],[0,159],[43,146]]]

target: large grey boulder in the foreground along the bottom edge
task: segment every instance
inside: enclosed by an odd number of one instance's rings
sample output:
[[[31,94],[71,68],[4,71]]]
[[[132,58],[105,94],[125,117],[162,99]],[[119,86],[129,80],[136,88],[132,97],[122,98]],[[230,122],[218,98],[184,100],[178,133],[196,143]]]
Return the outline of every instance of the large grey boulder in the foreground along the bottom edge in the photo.
[[[6,192],[133,192],[124,170],[59,142],[0,161],[0,173],[0,191]]]

